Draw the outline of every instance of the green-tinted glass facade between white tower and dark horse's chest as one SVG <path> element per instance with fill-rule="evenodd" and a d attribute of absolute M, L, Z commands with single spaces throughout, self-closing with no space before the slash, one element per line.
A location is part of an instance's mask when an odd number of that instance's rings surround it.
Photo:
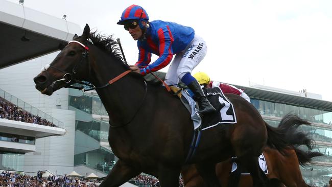
<path fill-rule="evenodd" d="M 81 96 L 69 96 L 69 106 L 89 115 L 91 121 L 76 120 L 75 130 L 81 132 L 76 141 L 84 141 L 85 147 L 75 143 L 74 165 L 86 165 L 89 168 L 108 173 L 115 163 L 115 156 L 108 145 L 108 114 L 100 98 L 93 92 L 84 92 Z M 82 135 L 83 133 L 83 135 Z"/>

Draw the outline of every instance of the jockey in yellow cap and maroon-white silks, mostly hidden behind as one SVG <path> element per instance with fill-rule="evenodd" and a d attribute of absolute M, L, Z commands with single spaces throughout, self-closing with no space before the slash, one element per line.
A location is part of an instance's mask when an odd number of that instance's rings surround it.
<path fill-rule="evenodd" d="M 234 93 L 238 96 L 243 97 L 245 100 L 247 100 L 250 103 L 249 96 L 242 89 L 218 81 L 210 81 L 210 77 L 203 72 L 196 73 L 194 77 L 203 87 L 207 88 L 219 87 L 223 91 L 223 93 Z"/>

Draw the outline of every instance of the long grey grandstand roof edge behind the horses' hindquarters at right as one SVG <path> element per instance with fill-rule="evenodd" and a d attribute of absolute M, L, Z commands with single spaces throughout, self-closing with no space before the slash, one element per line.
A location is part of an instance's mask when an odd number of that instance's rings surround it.
<path fill-rule="evenodd" d="M 252 99 L 291 104 L 291 105 L 314 108 L 325 111 L 332 111 L 332 102 L 329 101 L 303 97 L 292 93 L 284 93 L 277 90 L 245 87 L 239 85 L 234 85 L 234 86 L 245 90 L 247 95 Z"/>

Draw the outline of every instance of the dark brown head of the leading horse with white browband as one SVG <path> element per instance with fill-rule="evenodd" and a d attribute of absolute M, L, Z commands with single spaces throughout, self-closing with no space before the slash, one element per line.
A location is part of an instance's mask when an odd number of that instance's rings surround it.
<path fill-rule="evenodd" d="M 89 35 L 88 25 L 85 26 L 82 36 L 75 34 L 73 41 L 34 78 L 36 89 L 51 96 L 54 91 L 74 84 L 75 80 L 86 80 L 89 75 L 89 48 L 86 46 Z"/>

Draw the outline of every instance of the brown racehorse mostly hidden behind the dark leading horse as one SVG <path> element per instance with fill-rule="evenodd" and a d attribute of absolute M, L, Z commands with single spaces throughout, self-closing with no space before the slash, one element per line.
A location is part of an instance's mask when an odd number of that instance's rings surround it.
<path fill-rule="evenodd" d="M 309 150 L 312 150 L 314 144 L 314 140 L 309 134 L 297 131 L 299 125 L 310 125 L 310 123 L 298 118 L 296 115 L 284 116 L 278 128 L 281 131 L 287 131 L 285 138 L 289 148 L 284 149 L 283 154 L 268 146 L 264 148 L 263 154 L 267 163 L 267 177 L 271 180 L 269 186 L 283 186 L 283 184 L 290 187 L 309 186 L 302 178 L 299 165 L 305 166 L 312 161 L 313 157 L 322 156 L 323 154 L 311 151 L 304 152 L 298 148 L 298 146 L 304 145 Z M 217 176 L 223 186 L 227 186 L 229 182 L 232 163 L 231 159 L 228 159 L 219 162 L 216 166 Z M 186 187 L 204 186 L 203 179 L 197 172 L 195 165 L 184 166 L 181 175 Z M 251 187 L 250 175 L 241 175 L 239 186 Z"/>

